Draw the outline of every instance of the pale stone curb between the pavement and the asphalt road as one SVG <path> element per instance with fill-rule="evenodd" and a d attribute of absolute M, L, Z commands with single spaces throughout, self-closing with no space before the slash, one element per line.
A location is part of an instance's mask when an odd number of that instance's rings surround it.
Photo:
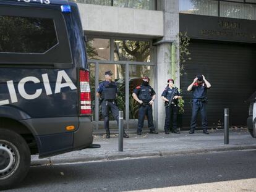
<path fill-rule="evenodd" d="M 223 152 L 223 151 L 243 151 L 249 149 L 256 149 L 256 144 L 247 144 L 239 146 L 219 146 L 213 148 L 202 148 L 202 149 L 184 149 L 179 151 L 173 150 L 163 150 L 163 151 L 142 151 L 136 152 L 134 154 L 130 152 L 116 152 L 111 155 L 100 155 L 93 157 L 62 157 L 59 159 L 36 159 L 31 162 L 31 166 L 41 166 L 41 165 L 54 165 L 54 164 L 69 164 L 76 162 L 93 162 L 93 161 L 113 161 L 122 159 L 136 159 L 136 158 L 146 158 L 146 157 L 168 157 L 184 154 L 202 154 L 208 152 Z"/>

